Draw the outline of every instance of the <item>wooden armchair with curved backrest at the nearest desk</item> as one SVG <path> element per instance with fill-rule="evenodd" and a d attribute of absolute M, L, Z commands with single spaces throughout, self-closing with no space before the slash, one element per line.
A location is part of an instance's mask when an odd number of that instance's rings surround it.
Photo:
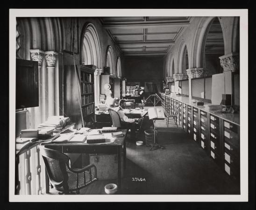
<path fill-rule="evenodd" d="M 71 168 L 70 158 L 66 154 L 43 146 L 40 146 L 40 152 L 51 184 L 62 192 L 59 194 L 71 194 L 71 191 L 79 194 L 79 189 L 97 180 L 97 169 L 92 164 L 84 168 Z"/>

